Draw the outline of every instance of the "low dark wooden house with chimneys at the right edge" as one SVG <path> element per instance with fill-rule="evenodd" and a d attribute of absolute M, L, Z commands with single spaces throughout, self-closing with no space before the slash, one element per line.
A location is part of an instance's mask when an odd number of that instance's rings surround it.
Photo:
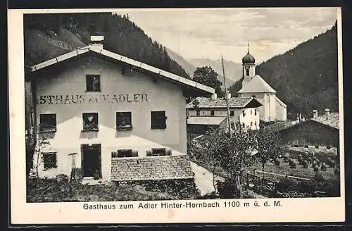
<path fill-rule="evenodd" d="M 282 145 L 298 151 L 328 151 L 337 154 L 339 147 L 339 113 L 325 112 L 318 115 L 313 110 L 312 118 L 270 125 L 281 136 Z"/>

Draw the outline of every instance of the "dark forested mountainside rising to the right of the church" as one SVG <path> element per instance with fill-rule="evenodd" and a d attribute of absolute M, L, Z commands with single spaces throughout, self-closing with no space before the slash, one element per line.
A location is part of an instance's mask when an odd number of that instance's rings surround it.
<path fill-rule="evenodd" d="M 338 111 L 337 23 L 326 32 L 309 39 L 284 54 L 256 67 L 287 104 L 288 117 L 302 113 L 311 117 L 314 109 Z M 232 94 L 241 82 L 231 87 Z"/>

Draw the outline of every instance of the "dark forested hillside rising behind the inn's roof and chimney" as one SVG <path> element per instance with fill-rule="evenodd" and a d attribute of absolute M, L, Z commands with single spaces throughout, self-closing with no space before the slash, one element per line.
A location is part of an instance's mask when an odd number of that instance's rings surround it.
<path fill-rule="evenodd" d="M 109 51 L 148 63 L 176 75 L 189 75 L 165 47 L 153 41 L 128 15 L 112 13 L 55 13 L 25 15 L 25 64 L 32 65 L 89 44 L 103 35 Z"/>

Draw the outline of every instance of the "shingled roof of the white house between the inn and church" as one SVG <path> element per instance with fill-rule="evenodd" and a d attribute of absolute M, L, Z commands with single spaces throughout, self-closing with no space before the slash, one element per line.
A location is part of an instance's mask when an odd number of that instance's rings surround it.
<path fill-rule="evenodd" d="M 197 108 L 227 108 L 225 98 L 210 99 L 197 97 L 186 105 L 186 108 L 195 108 L 194 102 L 198 101 Z M 252 97 L 232 97 L 228 100 L 229 108 L 256 108 L 262 106 Z"/>

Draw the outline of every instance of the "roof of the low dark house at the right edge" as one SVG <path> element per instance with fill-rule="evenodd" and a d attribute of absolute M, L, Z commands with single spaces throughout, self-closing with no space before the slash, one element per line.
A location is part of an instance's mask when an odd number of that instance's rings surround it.
<path fill-rule="evenodd" d="M 277 130 L 277 131 L 282 131 L 282 130 L 287 130 L 291 127 L 296 127 L 305 123 L 308 123 L 310 121 L 314 121 L 316 123 L 321 123 L 323 125 L 327 125 L 329 127 L 333 127 L 335 129 L 339 129 L 339 113 L 333 112 L 330 113 L 330 119 L 327 120 L 326 116 L 318 116 L 318 118 L 310 118 L 308 120 L 302 121 L 302 122 L 295 122 L 295 121 L 284 121 L 284 122 L 278 122 L 274 123 L 272 125 L 269 125 L 268 127 L 272 130 Z"/>

